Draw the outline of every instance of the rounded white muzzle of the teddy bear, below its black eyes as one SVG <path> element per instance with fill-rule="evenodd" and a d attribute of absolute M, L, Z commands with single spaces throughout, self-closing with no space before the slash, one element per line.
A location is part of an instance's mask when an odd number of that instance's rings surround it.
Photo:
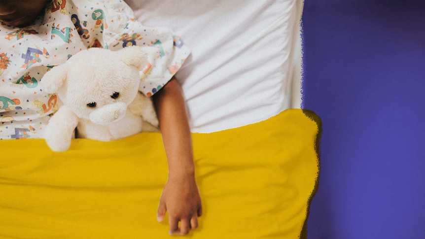
<path fill-rule="evenodd" d="M 90 113 L 90 120 L 99 125 L 107 125 L 122 119 L 126 114 L 127 105 L 123 102 L 107 104 Z"/>

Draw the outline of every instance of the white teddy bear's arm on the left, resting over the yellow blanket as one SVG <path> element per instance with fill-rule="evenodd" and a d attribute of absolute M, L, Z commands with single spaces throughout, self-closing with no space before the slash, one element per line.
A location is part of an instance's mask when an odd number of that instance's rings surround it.
<path fill-rule="evenodd" d="M 78 120 L 78 116 L 65 105 L 50 118 L 44 130 L 44 138 L 53 151 L 62 152 L 71 146 L 71 138 Z"/>

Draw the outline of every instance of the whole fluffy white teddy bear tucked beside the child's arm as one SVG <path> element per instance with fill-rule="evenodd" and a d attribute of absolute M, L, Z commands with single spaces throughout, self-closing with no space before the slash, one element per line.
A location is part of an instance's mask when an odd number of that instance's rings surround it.
<path fill-rule="evenodd" d="M 158 131 L 153 102 L 139 91 L 146 55 L 139 46 L 89 48 L 47 71 L 40 84 L 61 105 L 44 130 L 48 146 L 68 150 L 75 129 L 76 137 L 101 141 Z"/>

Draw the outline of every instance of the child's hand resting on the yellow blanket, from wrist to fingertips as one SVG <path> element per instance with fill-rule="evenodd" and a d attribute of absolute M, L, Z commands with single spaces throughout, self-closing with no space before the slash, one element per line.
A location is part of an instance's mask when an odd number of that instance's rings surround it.
<path fill-rule="evenodd" d="M 195 179 L 170 178 L 165 184 L 158 207 L 158 221 L 164 220 L 168 211 L 170 235 L 186 235 L 198 227 L 198 217 L 202 214 L 201 197 Z M 180 227 L 178 222 L 180 221 Z"/>

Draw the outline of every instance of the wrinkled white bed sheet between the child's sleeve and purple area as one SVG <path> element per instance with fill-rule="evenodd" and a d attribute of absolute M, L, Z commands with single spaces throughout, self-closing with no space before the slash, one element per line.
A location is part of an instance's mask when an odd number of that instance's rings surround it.
<path fill-rule="evenodd" d="M 236 128 L 301 105 L 302 0 L 126 0 L 192 50 L 177 72 L 192 132 Z"/>

